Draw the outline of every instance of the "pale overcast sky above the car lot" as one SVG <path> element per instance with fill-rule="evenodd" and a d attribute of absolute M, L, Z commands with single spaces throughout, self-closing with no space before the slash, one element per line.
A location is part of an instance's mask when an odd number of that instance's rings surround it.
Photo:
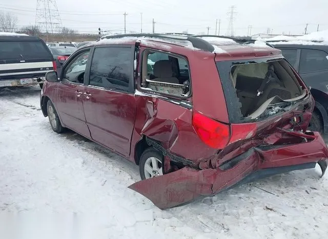
<path fill-rule="evenodd" d="M 140 32 L 142 12 L 143 32 L 215 33 L 216 19 L 221 19 L 220 35 L 227 33 L 231 5 L 235 5 L 235 35 L 266 33 L 302 34 L 306 23 L 308 32 L 328 29 L 328 0 L 49 0 L 56 2 L 63 26 L 79 32 L 97 33 L 102 30 Z M 47 0 L 45 0 L 47 2 Z M 37 0 L 1 1 L 0 11 L 18 17 L 18 27 L 35 24 Z M 84 15 L 83 15 L 84 14 Z"/>

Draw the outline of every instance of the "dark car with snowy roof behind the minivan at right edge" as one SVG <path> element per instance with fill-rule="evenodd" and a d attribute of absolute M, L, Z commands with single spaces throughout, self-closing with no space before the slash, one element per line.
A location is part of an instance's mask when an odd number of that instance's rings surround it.
<path fill-rule="evenodd" d="M 308 42 L 271 43 L 297 70 L 315 99 L 309 129 L 328 133 L 328 46 Z"/>

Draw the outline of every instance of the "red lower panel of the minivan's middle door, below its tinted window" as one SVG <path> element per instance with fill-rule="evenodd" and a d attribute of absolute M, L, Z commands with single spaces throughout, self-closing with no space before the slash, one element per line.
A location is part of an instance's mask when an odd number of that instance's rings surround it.
<path fill-rule="evenodd" d="M 136 117 L 135 96 L 86 86 L 83 106 L 92 140 L 128 157 Z"/>

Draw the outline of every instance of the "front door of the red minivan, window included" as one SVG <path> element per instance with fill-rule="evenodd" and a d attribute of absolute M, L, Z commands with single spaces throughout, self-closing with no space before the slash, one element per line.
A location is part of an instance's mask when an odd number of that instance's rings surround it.
<path fill-rule="evenodd" d="M 55 95 L 56 109 L 64 125 L 89 138 L 90 132 L 83 110 L 83 93 L 90 51 L 89 48 L 77 52 L 64 65 Z"/>

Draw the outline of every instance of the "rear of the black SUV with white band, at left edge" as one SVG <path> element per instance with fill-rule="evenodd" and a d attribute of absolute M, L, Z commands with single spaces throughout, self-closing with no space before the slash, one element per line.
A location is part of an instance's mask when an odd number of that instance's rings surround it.
<path fill-rule="evenodd" d="M 53 57 L 38 38 L 2 37 L 0 80 L 43 77 L 53 70 Z"/>

